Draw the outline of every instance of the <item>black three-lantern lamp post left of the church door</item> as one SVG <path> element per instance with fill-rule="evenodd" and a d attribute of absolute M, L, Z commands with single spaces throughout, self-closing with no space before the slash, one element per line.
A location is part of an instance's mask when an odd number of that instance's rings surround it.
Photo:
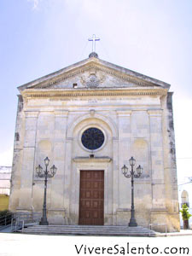
<path fill-rule="evenodd" d="M 47 201 L 47 178 L 48 177 L 54 177 L 57 168 L 55 167 L 55 165 L 53 165 L 50 168 L 50 173 L 47 169 L 47 167 L 49 166 L 49 158 L 46 157 L 44 159 L 44 165 L 45 165 L 45 171 L 43 171 L 42 166 L 38 165 L 38 167 L 36 167 L 36 172 L 38 174 L 38 177 L 44 177 L 44 207 L 43 207 L 43 216 L 41 218 L 41 221 L 39 222 L 39 225 L 49 225 L 49 222 L 47 220 L 47 209 L 46 209 L 46 201 Z"/>

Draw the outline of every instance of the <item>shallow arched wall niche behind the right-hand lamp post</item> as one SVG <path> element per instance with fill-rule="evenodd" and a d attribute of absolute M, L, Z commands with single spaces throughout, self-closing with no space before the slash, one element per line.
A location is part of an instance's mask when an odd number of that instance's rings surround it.
<path fill-rule="evenodd" d="M 143 138 L 135 139 L 133 143 L 133 157 L 136 159 L 136 165 L 143 167 L 143 176 L 149 175 L 149 154 L 148 143 Z"/>

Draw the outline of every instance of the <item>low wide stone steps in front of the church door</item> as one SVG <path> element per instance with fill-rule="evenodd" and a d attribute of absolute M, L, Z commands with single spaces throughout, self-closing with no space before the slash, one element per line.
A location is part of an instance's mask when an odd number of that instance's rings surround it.
<path fill-rule="evenodd" d="M 157 236 L 141 226 L 33 225 L 20 230 L 25 234 L 68 236 Z"/>

